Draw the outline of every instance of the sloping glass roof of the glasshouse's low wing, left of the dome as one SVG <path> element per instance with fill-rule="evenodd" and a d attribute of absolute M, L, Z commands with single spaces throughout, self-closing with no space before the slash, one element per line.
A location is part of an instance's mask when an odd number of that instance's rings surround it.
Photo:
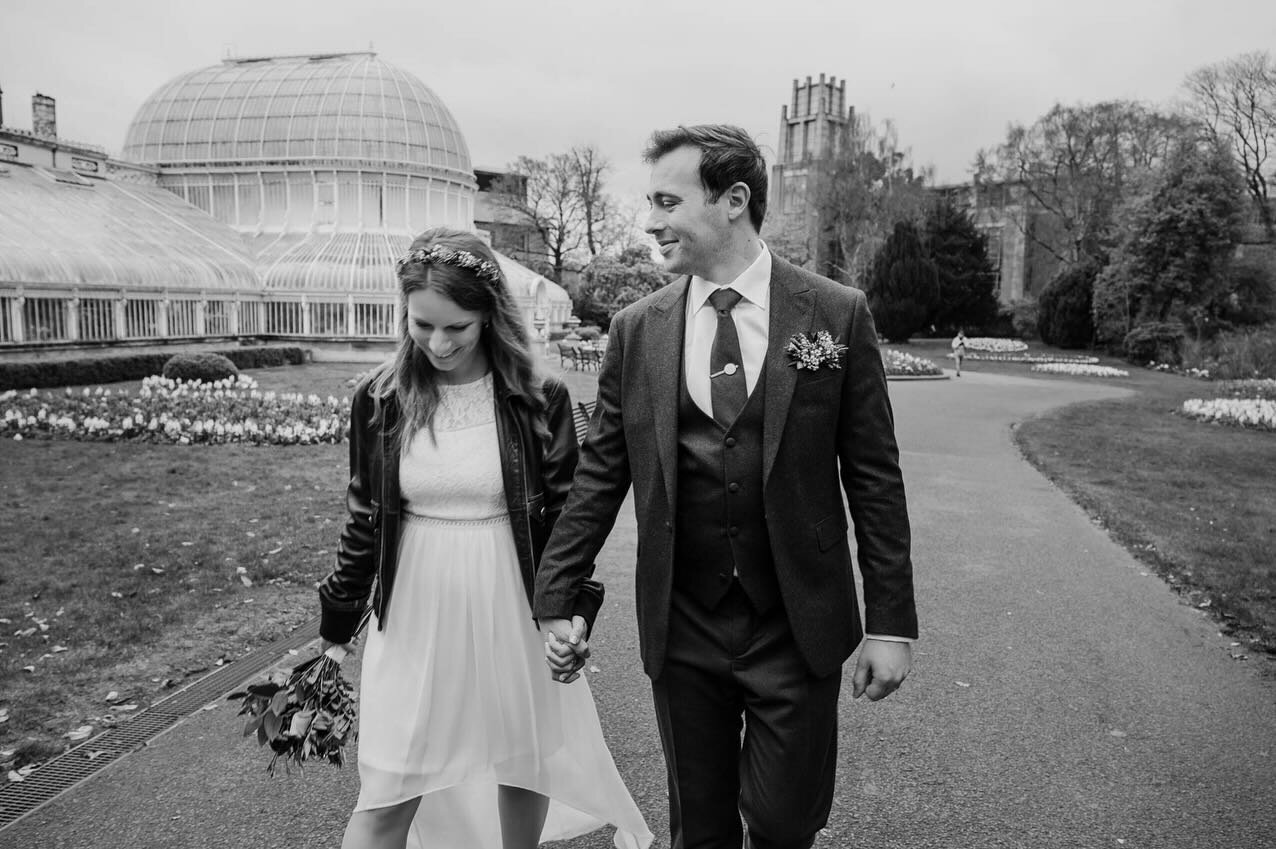
<path fill-rule="evenodd" d="M 230 227 L 153 186 L 0 167 L 0 283 L 260 291 Z"/>

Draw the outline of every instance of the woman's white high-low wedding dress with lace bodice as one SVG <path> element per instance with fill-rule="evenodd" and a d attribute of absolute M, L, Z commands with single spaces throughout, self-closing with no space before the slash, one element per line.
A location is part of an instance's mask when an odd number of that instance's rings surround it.
<path fill-rule="evenodd" d="M 500 849 L 498 785 L 550 798 L 541 841 L 652 841 L 582 675 L 550 679 L 505 507 L 491 377 L 443 387 L 406 446 L 398 572 L 367 628 L 356 811 L 421 798 L 410 846 Z"/>

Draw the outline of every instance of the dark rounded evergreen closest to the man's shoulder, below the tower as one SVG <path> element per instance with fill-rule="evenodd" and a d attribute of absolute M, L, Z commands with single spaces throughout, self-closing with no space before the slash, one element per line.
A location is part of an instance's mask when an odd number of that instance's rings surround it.
<path fill-rule="evenodd" d="M 894 225 L 865 282 L 877 329 L 892 342 L 906 342 L 925 327 L 939 304 L 939 272 L 921 246 L 917 227 L 907 221 Z"/>

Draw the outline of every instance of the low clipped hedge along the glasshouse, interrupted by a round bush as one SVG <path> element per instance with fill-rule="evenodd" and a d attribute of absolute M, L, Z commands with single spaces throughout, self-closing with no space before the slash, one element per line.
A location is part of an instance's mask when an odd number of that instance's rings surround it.
<path fill-rule="evenodd" d="M 213 354 L 225 356 L 241 369 L 301 365 L 306 361 L 306 351 L 300 347 L 236 347 Z M 130 354 L 98 359 L 0 363 L 0 392 L 140 380 L 161 374 L 171 356 L 172 354 Z"/>

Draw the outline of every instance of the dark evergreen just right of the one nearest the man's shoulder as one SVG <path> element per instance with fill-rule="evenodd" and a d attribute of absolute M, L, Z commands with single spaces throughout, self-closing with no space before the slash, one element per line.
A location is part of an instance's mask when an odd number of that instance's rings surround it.
<path fill-rule="evenodd" d="M 940 198 L 926 214 L 926 253 L 939 273 L 939 303 L 930 323 L 951 334 L 997 320 L 997 271 L 988 258 L 988 236 L 970 213 Z"/>

